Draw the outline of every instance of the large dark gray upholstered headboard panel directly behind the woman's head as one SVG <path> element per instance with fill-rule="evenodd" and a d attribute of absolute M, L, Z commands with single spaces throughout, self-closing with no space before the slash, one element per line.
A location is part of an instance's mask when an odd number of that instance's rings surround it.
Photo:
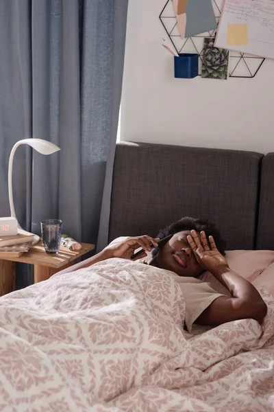
<path fill-rule="evenodd" d="M 109 240 L 156 236 L 182 216 L 208 218 L 227 249 L 254 249 L 263 155 L 121 142 L 116 147 Z"/>

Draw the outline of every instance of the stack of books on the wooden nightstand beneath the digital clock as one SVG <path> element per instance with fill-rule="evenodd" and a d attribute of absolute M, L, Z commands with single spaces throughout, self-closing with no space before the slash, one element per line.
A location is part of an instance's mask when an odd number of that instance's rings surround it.
<path fill-rule="evenodd" d="M 34 240 L 33 235 L 3 236 L 0 238 L 0 259 L 19 258 L 28 252 Z"/>

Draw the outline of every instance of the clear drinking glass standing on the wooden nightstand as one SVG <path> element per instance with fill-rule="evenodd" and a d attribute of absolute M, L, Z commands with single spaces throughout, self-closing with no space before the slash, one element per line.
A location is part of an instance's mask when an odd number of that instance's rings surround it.
<path fill-rule="evenodd" d="M 62 238 L 62 220 L 42 220 L 41 233 L 45 251 L 50 255 L 59 253 Z"/>

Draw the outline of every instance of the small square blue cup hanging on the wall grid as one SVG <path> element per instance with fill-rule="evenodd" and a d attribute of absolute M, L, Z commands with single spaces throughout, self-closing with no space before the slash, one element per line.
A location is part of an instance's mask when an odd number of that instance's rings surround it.
<path fill-rule="evenodd" d="M 198 54 L 182 53 L 174 56 L 174 77 L 179 79 L 192 79 L 198 76 Z"/>

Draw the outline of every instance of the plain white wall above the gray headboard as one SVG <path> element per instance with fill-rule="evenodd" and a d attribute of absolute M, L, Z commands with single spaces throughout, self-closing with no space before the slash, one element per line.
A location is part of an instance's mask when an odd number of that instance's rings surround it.
<path fill-rule="evenodd" d="M 129 0 L 121 140 L 274 152 L 274 61 L 253 79 L 175 79 L 165 3 Z"/>

